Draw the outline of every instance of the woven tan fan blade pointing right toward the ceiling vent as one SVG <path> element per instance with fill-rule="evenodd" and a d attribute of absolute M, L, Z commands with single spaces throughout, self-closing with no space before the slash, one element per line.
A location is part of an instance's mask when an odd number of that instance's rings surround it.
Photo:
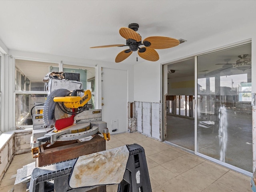
<path fill-rule="evenodd" d="M 180 44 L 178 39 L 170 38 L 170 37 L 160 37 L 160 36 L 152 36 L 147 37 L 143 40 L 150 42 L 149 48 L 152 49 L 167 49 L 171 47 L 175 47 Z"/>

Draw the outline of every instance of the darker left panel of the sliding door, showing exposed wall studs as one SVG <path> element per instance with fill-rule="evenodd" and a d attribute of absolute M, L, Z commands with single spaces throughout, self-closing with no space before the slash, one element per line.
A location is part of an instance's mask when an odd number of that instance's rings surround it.
<path fill-rule="evenodd" d="M 195 150 L 194 67 L 194 57 L 168 65 L 166 96 L 165 140 L 191 151 Z"/>

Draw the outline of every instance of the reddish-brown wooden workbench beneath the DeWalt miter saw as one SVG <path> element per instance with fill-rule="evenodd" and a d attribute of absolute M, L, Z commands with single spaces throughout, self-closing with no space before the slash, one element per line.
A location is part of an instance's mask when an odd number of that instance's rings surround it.
<path fill-rule="evenodd" d="M 36 158 L 36 166 L 38 167 L 104 151 L 106 150 L 106 140 L 95 134 L 90 141 L 80 142 L 79 140 L 74 140 L 55 142 L 50 147 L 43 145 L 40 148 L 41 152 L 39 157 Z M 90 190 L 90 192 L 93 191 L 106 192 L 106 186 L 100 186 L 94 190 Z"/>

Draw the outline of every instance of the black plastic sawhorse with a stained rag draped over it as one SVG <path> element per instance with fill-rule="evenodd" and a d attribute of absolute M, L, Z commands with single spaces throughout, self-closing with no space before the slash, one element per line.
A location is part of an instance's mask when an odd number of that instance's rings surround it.
<path fill-rule="evenodd" d="M 138 144 L 127 145 L 130 152 L 124 178 L 118 192 L 152 192 L 144 148 Z M 76 159 L 58 162 L 33 170 L 30 192 L 86 192 L 97 186 L 70 188 L 68 179 Z M 49 182 L 53 181 L 53 182 Z"/>

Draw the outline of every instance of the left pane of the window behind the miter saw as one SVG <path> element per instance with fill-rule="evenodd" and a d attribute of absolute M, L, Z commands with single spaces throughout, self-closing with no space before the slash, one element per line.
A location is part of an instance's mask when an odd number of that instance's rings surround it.
<path fill-rule="evenodd" d="M 42 79 L 50 71 L 50 66 L 58 68 L 55 63 L 15 60 L 16 126 L 33 124 L 31 114 L 34 114 L 37 108 L 42 108 L 34 106 L 43 104 L 47 97 Z"/>

